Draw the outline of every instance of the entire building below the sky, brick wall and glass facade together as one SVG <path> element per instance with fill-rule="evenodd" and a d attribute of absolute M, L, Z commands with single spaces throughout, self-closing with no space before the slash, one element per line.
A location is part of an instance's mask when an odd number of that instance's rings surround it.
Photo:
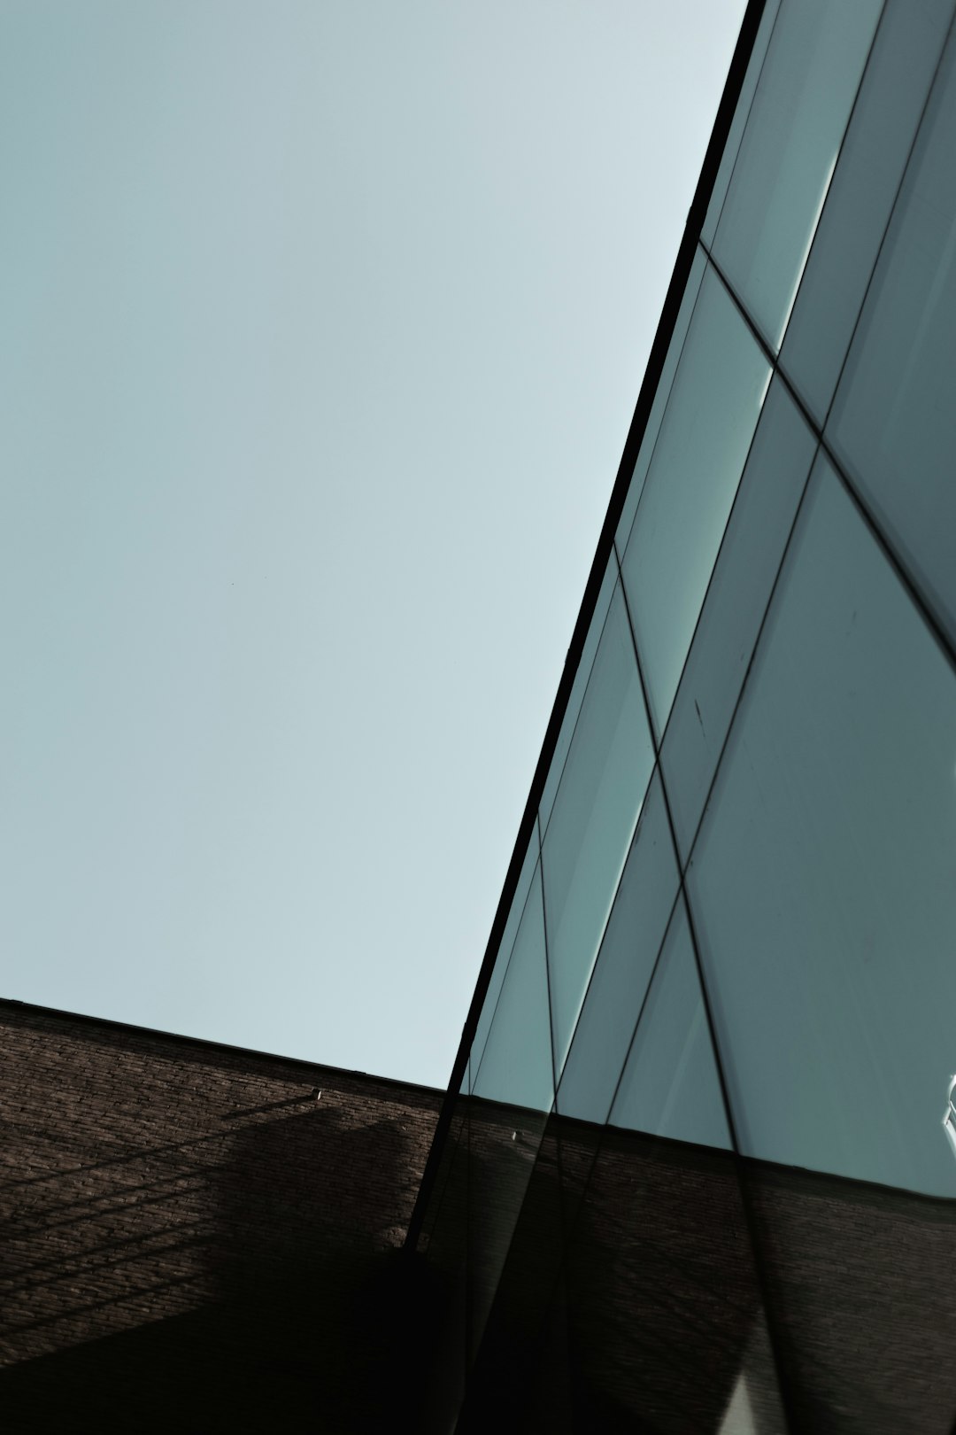
<path fill-rule="evenodd" d="M 748 6 L 444 1099 L 0 1003 L 4 1431 L 956 1431 L 955 9 Z"/>

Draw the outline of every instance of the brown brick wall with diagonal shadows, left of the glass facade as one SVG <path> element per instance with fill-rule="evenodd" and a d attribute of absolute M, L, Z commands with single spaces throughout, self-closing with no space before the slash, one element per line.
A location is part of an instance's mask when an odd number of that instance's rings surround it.
<path fill-rule="evenodd" d="M 19 1003 L 0 1062 L 4 1432 L 388 1428 L 440 1092 Z"/>

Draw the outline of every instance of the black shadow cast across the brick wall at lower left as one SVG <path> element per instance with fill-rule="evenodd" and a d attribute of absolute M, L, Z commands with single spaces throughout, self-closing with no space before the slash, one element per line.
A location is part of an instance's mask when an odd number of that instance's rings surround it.
<path fill-rule="evenodd" d="M 365 1102 L 370 1112 L 374 1105 Z M 221 1118 L 221 1134 L 166 1148 L 145 1139 L 99 1167 L 89 1162 L 87 1180 L 110 1162 L 136 1172 L 123 1185 L 112 1174 L 105 1194 L 77 1197 L 72 1170 L 7 1182 L 29 1194 L 42 1181 L 44 1190 L 39 1220 L 36 1204 L 24 1208 L 34 1227 L 17 1224 L 16 1201 L 6 1205 L 20 1233 L 9 1271 L 20 1316 L 7 1319 L 7 1349 L 20 1340 L 27 1350 L 30 1326 L 44 1323 L 69 1327 L 72 1339 L 59 1349 L 47 1339 L 47 1353 L 21 1353 L 0 1370 L 4 1435 L 416 1428 L 410 1372 L 429 1302 L 401 1254 L 397 1221 L 420 1118 L 416 1125 L 406 1111 L 361 1124 L 354 1108 L 343 1115 L 301 1099 L 235 1115 Z M 163 1151 L 173 1168 L 158 1165 Z M 152 1181 L 139 1180 L 146 1161 Z M 103 1203 L 116 1191 L 128 1218 L 110 1236 Z M 60 1237 L 53 1254 L 52 1233 Z M 70 1260 L 79 1261 L 73 1284 Z M 93 1270 L 100 1289 L 109 1279 L 107 1290 L 122 1294 L 102 1302 L 112 1300 L 112 1333 L 96 1336 L 92 1325 L 77 1336 L 76 1322 L 96 1314 Z M 59 1304 L 47 1313 L 54 1281 Z M 158 1316 L 163 1287 L 176 1281 L 193 1292 L 186 1309 Z"/>

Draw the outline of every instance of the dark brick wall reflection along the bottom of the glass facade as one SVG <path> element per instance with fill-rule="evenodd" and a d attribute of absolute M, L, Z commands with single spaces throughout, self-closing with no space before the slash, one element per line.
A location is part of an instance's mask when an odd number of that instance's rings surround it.
<path fill-rule="evenodd" d="M 426 1254 L 459 1432 L 949 1435 L 952 1203 L 555 1118 L 529 1178 L 520 1114 L 462 1106 Z"/>

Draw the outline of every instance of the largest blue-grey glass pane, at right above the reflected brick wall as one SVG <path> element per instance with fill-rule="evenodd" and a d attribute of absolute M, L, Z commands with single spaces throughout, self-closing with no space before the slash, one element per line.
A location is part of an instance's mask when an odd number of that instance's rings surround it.
<path fill-rule="evenodd" d="M 688 868 L 741 1148 L 956 1195 L 956 677 L 817 461 Z"/>

